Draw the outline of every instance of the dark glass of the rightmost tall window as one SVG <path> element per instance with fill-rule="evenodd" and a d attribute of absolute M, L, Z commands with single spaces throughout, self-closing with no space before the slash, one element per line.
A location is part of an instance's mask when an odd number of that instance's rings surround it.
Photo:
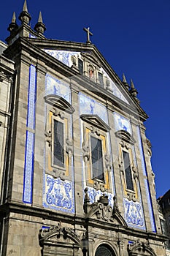
<path fill-rule="evenodd" d="M 132 176 L 131 176 L 131 165 L 128 152 L 123 151 L 123 162 L 125 167 L 125 181 L 127 189 L 134 190 Z"/>

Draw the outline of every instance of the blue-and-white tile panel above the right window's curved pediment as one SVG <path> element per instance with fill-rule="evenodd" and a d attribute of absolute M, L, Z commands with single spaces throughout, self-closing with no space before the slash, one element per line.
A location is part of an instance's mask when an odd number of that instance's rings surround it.
<path fill-rule="evenodd" d="M 124 129 L 126 132 L 129 132 L 130 134 L 132 134 L 131 123 L 127 118 L 120 116 L 118 113 L 114 113 L 114 118 L 115 118 L 116 131 L 120 129 Z"/>

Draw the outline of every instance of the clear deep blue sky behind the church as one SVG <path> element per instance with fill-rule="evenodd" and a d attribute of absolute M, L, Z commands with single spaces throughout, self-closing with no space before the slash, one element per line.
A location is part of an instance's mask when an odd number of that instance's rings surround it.
<path fill-rule="evenodd" d="M 134 80 L 141 106 L 150 116 L 146 134 L 152 143 L 157 197 L 163 195 L 170 189 L 170 1 L 27 0 L 27 4 L 32 27 L 42 11 L 47 38 L 85 42 L 82 29 L 90 26 L 91 41 L 117 75 L 121 78 L 124 72 L 128 82 Z M 1 3 L 2 41 L 9 35 L 13 11 L 20 24 L 22 8 L 23 0 Z"/>

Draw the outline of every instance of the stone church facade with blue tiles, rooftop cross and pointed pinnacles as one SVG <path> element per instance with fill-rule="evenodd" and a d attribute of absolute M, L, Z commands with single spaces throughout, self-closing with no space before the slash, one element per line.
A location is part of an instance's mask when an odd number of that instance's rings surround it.
<path fill-rule="evenodd" d="M 0 56 L 1 255 L 165 256 L 134 83 L 26 1 Z"/>

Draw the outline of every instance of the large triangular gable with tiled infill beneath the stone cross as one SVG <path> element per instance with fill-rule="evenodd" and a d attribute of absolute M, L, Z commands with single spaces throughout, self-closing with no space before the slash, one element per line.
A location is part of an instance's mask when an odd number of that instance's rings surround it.
<path fill-rule="evenodd" d="M 42 51 L 42 56 L 44 53 L 43 58 L 47 59 L 48 55 L 50 58 L 49 60 L 52 62 L 53 60 L 51 57 L 69 67 L 70 75 L 72 73 L 73 76 L 81 75 L 88 78 L 89 74 L 87 65 L 83 71 L 83 75 L 80 74 L 78 69 L 78 59 L 81 59 L 82 61 L 86 60 L 89 66 L 92 64 L 92 66 L 96 68 L 96 74 L 100 72 L 103 75 L 104 87 L 101 89 L 102 93 L 106 91 L 107 95 L 110 95 L 110 99 L 114 99 L 115 101 L 118 99 L 117 102 L 120 105 L 120 108 L 125 107 L 125 110 L 131 110 L 133 113 L 138 113 L 141 116 L 142 121 L 147 119 L 147 114 L 144 112 L 144 110 L 142 110 L 139 102 L 137 102 L 136 99 L 134 99 L 134 97 L 128 91 L 128 89 L 125 88 L 123 81 L 120 80 L 112 67 L 109 66 L 106 59 L 104 59 L 104 56 L 101 55 L 95 45 L 82 42 L 59 41 L 53 39 L 30 38 L 28 41 Z M 50 64 L 49 60 L 47 60 L 47 64 Z M 58 62 L 56 62 L 56 65 L 58 65 Z M 88 82 L 88 80 L 85 81 Z M 96 86 L 100 87 L 98 78 L 93 80 L 93 82 L 96 83 Z M 121 102 L 125 103 L 125 105 L 123 104 L 122 106 Z"/>

